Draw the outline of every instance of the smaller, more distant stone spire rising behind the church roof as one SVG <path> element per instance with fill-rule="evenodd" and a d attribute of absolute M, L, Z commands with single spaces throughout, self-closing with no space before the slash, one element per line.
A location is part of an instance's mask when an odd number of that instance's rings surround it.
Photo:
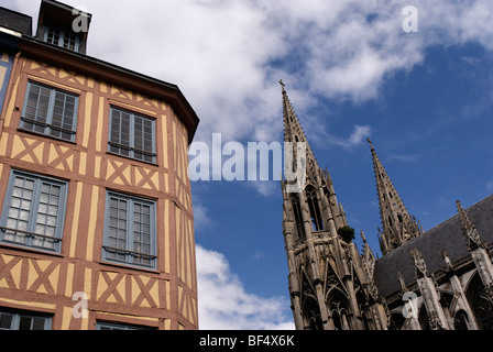
<path fill-rule="evenodd" d="M 401 200 L 397 190 L 376 155 L 372 141 L 368 139 L 368 142 L 372 151 L 383 227 L 383 231 L 379 231 L 380 249 L 382 250 L 382 254 L 385 255 L 393 249 L 421 234 L 421 229 L 416 222 L 416 219 L 408 213 Z"/>

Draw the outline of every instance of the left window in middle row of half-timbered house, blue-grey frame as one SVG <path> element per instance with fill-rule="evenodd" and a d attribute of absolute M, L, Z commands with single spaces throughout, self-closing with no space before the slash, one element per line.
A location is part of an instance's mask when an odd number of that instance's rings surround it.
<path fill-rule="evenodd" d="M 67 184 L 13 170 L 0 222 L 0 240 L 59 253 Z"/>

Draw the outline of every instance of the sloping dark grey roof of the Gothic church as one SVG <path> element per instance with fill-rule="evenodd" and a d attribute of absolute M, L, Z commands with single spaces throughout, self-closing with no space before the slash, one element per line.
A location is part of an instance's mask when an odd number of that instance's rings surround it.
<path fill-rule="evenodd" d="M 493 244 L 493 195 L 468 208 L 465 213 L 483 242 L 491 248 Z M 430 273 L 445 268 L 442 250 L 447 251 L 452 264 L 468 257 L 468 242 L 462 234 L 459 216 L 456 215 L 376 261 L 374 279 L 383 297 L 388 297 L 401 289 L 397 273 L 403 275 L 407 286 L 416 282 L 415 266 L 410 257 L 410 251 L 414 249 L 421 253 Z"/>

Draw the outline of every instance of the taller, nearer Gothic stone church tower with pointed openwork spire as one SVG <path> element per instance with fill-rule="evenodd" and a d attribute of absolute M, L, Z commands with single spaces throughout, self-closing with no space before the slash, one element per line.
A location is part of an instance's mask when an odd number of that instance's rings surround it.
<path fill-rule="evenodd" d="M 330 175 L 319 167 L 280 82 L 284 141 L 306 143 L 306 187 L 292 193 L 288 182 L 282 182 L 283 233 L 296 329 L 386 329 L 385 306 L 373 282 L 374 257 L 372 253 L 360 257 Z"/>

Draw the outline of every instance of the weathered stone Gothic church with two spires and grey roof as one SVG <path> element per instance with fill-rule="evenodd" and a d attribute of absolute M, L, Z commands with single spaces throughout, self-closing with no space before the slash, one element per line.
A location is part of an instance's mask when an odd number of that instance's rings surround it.
<path fill-rule="evenodd" d="M 282 82 L 281 82 L 282 84 Z M 424 232 L 370 142 L 383 257 L 353 242 L 329 172 L 321 169 L 283 86 L 285 142 L 306 143 L 306 187 L 282 182 L 283 234 L 296 329 L 493 329 L 493 196 Z M 296 158 L 295 158 L 296 160 Z"/>

